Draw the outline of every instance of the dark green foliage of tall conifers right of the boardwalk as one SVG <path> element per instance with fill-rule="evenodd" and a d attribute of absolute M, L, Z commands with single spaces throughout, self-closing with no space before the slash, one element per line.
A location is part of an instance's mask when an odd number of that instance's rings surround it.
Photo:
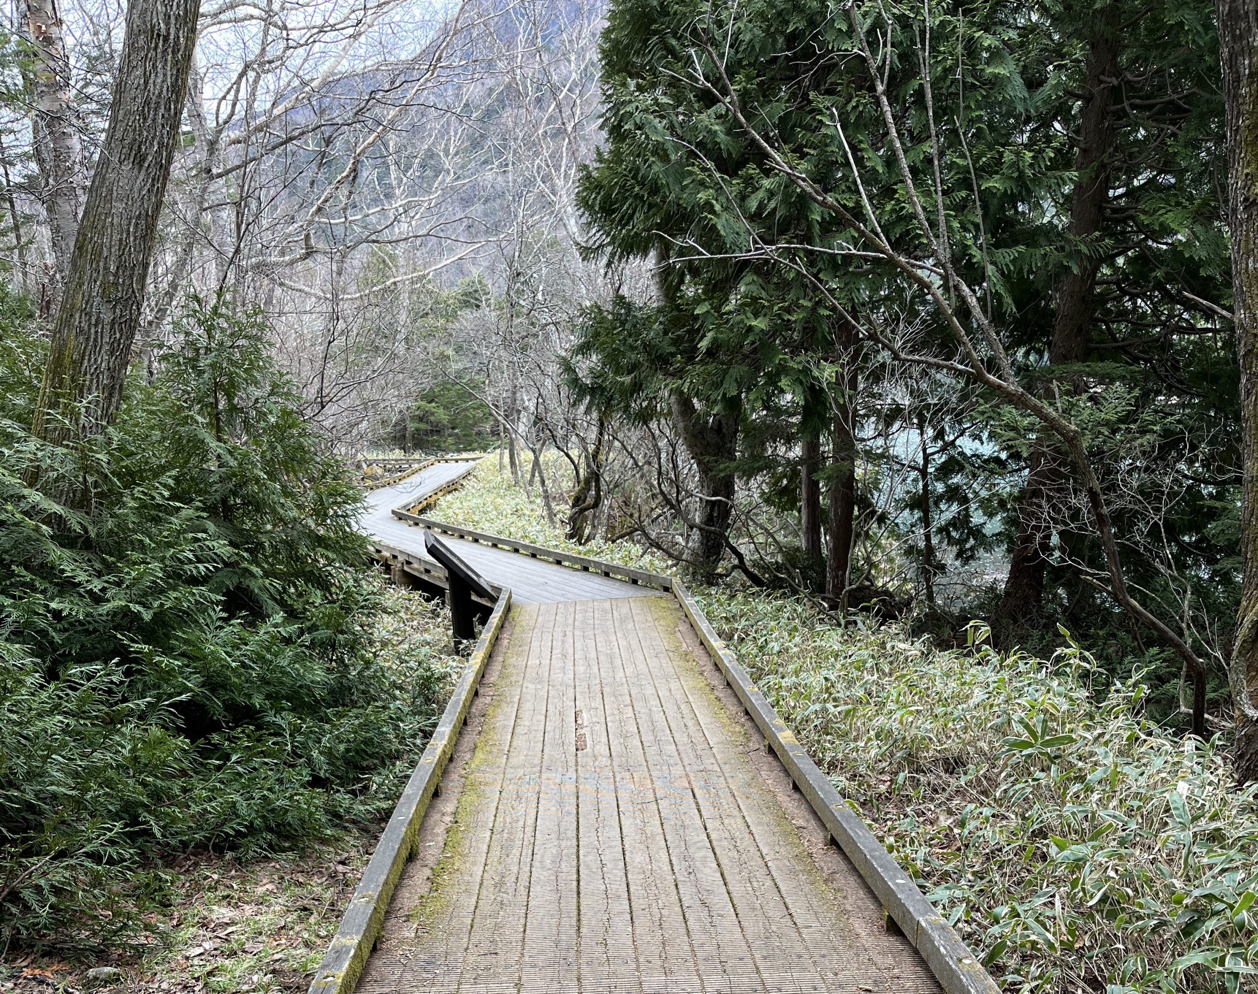
<path fill-rule="evenodd" d="M 866 224 L 876 214 L 889 244 L 930 259 L 892 130 L 855 54 L 852 10 L 811 0 L 616 0 L 603 35 L 606 141 L 582 176 L 580 204 L 613 260 L 660 263 L 664 313 L 648 343 L 671 349 L 674 375 L 696 395 L 738 399 L 740 493 L 790 522 L 800 439 L 820 432 L 828 445 L 830 411 L 855 406 L 858 535 L 867 541 L 858 541 L 853 575 L 916 585 L 921 599 L 920 486 L 874 512 L 888 481 L 913 473 L 903 461 L 920 450 L 920 418 L 931 445 L 933 554 L 961 581 L 977 572 L 976 557 L 1011 547 L 1028 466 L 1058 442 L 961 377 L 889 361 L 868 336 L 855 396 L 837 389 L 839 307 L 907 351 L 961 356 L 937 308 L 872 252 L 855 223 L 785 179 L 720 97 L 732 93 L 750 126 L 850 218 Z M 1016 379 L 1053 396 L 1086 437 L 1128 584 L 1167 624 L 1190 629 L 1200 656 L 1220 658 L 1238 593 L 1239 409 L 1234 343 L 1220 318 L 1230 271 L 1213 5 L 998 0 L 854 10 L 874 48 L 893 53 L 879 78 L 930 225 L 946 235 Z M 1121 77 L 1108 104 L 1107 196 L 1099 230 L 1078 234 L 1086 82 L 1106 33 L 1117 38 Z M 1066 277 L 1089 265 L 1094 292 L 1063 297 Z M 1068 304 L 1086 313 L 1086 342 L 1081 357 L 1049 369 Z M 614 398 L 637 386 L 621 370 L 633 371 L 626 342 L 642 338 L 639 317 L 613 308 L 585 328 L 586 384 L 610 385 Z M 1049 652 L 1062 624 L 1098 645 L 1115 673 L 1154 664 L 1151 706 L 1167 715 L 1177 666 L 1156 635 L 1136 630 L 1081 579 L 1103 583 L 1106 566 L 1078 491 L 1063 479 L 1052 503 L 1043 605 L 1020 640 Z M 809 572 L 794 554 L 780 559 L 788 575 Z M 772 570 L 761 564 L 761 574 Z M 999 591 L 988 596 L 975 576 L 969 594 L 954 588 L 947 601 L 964 624 L 986 617 Z"/>

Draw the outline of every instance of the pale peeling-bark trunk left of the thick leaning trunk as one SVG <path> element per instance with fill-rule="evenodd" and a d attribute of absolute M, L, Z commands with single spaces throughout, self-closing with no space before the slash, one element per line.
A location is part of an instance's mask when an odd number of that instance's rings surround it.
<path fill-rule="evenodd" d="M 30 31 L 33 98 L 31 138 L 39 170 L 40 200 L 48 215 L 57 271 L 50 293 L 55 307 L 70 268 L 79 211 L 83 208 L 84 164 L 70 91 L 70 63 L 57 0 L 26 0 Z M 121 78 L 121 77 L 120 77 Z"/>

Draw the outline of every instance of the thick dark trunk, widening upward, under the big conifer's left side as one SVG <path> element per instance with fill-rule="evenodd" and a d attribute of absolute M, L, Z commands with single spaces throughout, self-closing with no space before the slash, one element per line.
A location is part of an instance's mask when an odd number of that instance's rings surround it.
<path fill-rule="evenodd" d="M 694 409 L 694 401 L 681 393 L 674 393 L 669 403 L 673 423 L 699 477 L 702 506 L 691 532 L 691 561 L 697 569 L 711 572 L 725 555 L 733 515 L 731 464 L 738 443 L 738 422 L 728 414 L 702 415 Z"/>

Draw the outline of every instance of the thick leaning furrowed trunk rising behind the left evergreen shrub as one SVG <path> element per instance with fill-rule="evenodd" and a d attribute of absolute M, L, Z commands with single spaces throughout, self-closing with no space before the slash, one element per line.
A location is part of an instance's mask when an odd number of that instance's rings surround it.
<path fill-rule="evenodd" d="M 200 0 L 132 0 L 109 126 L 74 243 L 35 413 L 64 442 L 113 420 L 179 138 Z M 79 409 L 79 405 L 83 405 Z M 62 416 L 58 416 L 60 414 Z"/>

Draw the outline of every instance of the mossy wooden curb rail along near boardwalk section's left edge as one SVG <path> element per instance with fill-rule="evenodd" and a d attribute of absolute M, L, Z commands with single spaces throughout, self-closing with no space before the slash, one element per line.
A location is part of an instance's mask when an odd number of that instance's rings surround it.
<path fill-rule="evenodd" d="M 463 727 L 472 698 L 481 683 L 493 644 L 502 632 L 503 619 L 511 608 L 511 591 L 503 590 L 486 622 L 472 657 L 459 678 L 450 702 L 442 713 L 437 731 L 420 756 L 415 771 L 406 783 L 398 807 L 371 854 L 371 861 L 359 881 L 350 907 L 341 920 L 323 963 L 314 974 L 309 994 L 350 994 L 357 984 L 371 949 L 384 927 L 385 912 L 392 897 L 401 871 L 415 846 L 419 825 L 424 820 L 428 804 L 437 791 L 442 771 L 454 751 L 454 744 Z"/>

